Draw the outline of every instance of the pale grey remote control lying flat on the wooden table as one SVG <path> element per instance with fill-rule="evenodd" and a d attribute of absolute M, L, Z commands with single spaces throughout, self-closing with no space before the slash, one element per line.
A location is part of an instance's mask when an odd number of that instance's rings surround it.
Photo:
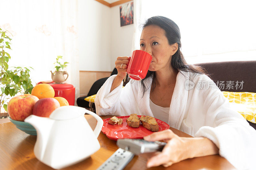
<path fill-rule="evenodd" d="M 133 157 L 132 152 L 119 148 L 97 170 L 122 170 Z"/>

